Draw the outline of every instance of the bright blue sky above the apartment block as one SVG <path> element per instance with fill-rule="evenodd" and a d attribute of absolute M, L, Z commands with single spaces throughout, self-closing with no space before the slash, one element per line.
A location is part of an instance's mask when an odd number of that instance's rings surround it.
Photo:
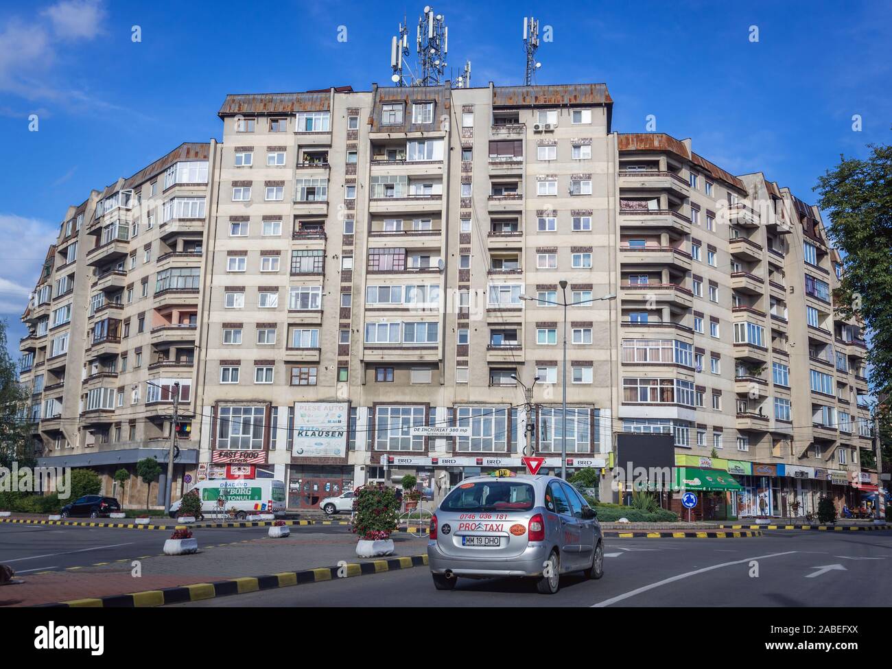
<path fill-rule="evenodd" d="M 621 132 L 644 131 L 654 114 L 658 131 L 692 137 L 724 169 L 762 169 L 808 202 L 840 153 L 889 141 L 888 2 L 534 5 L 553 34 L 536 83 L 606 82 Z M 451 64 L 458 72 L 470 59 L 474 86 L 522 83 L 529 7 L 496 10 L 507 6 L 434 4 L 450 26 Z M 422 7 L 3 0 L 0 318 L 15 355 L 19 316 L 70 203 L 183 141 L 219 138 L 227 93 L 387 84 L 390 37 Z"/>

